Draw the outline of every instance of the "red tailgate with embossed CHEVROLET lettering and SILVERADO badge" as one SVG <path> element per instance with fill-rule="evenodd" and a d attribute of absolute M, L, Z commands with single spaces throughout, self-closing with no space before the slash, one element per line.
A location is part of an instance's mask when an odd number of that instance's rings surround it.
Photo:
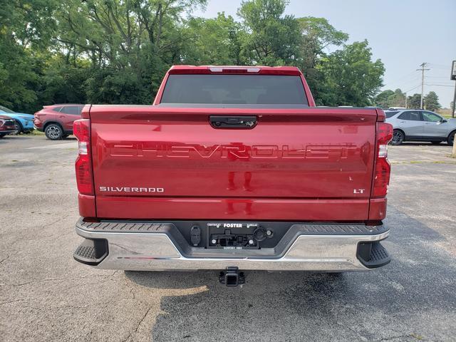
<path fill-rule="evenodd" d="M 257 124 L 251 129 L 214 128 L 209 118 L 217 115 L 250 115 Z M 171 218 L 182 216 L 177 208 L 195 210 L 198 207 L 192 205 L 199 203 L 199 207 L 208 205 L 202 219 L 212 217 L 206 210 L 210 203 L 212 208 L 222 203 L 214 217 L 226 218 L 241 203 L 237 219 L 254 219 L 255 209 L 289 212 L 290 208 L 299 210 L 295 216 L 301 219 L 323 219 L 306 210 L 324 203 L 339 203 L 341 209 L 343 203 L 345 210 L 353 204 L 356 217 L 367 218 L 375 121 L 375 109 L 93 106 L 97 214 L 119 218 L 127 206 L 130 214 L 123 217 Z M 170 209 L 173 203 L 179 206 Z M 257 203 L 264 206 L 252 207 Z M 271 207 L 273 203 L 281 204 Z M 284 216 L 269 214 L 273 219 L 292 218 Z"/>

